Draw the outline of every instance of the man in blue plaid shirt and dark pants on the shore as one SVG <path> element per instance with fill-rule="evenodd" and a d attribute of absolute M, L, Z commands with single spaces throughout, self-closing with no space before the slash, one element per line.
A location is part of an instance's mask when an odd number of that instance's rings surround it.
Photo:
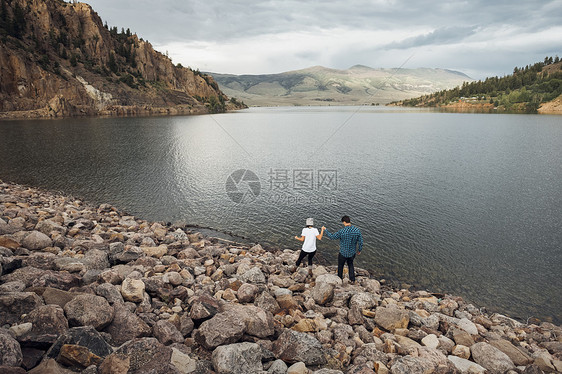
<path fill-rule="evenodd" d="M 349 216 L 343 216 L 341 221 L 344 228 L 332 234 L 325 227 L 328 238 L 340 240 L 340 253 L 338 254 L 338 276 L 343 280 L 343 266 L 347 263 L 349 269 L 349 280 L 355 283 L 355 268 L 353 267 L 353 260 L 356 254 L 361 254 L 363 249 L 363 236 L 358 227 L 351 224 Z"/>

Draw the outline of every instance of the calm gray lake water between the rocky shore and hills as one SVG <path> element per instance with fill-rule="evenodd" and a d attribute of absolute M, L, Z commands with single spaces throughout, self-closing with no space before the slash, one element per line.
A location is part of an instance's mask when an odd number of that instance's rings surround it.
<path fill-rule="evenodd" d="M 307 217 L 377 277 L 562 322 L 562 117 L 373 107 L 0 122 L 0 178 L 298 249 Z M 337 242 L 319 243 L 335 258 Z M 332 260 L 332 263 L 334 261 Z"/>

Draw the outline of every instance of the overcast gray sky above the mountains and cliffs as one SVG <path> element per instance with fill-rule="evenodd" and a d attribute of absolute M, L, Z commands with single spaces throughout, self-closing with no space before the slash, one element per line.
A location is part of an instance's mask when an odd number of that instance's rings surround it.
<path fill-rule="evenodd" d="M 430 67 L 475 79 L 562 57 L 562 1 L 89 0 L 174 63 L 264 74 Z"/>

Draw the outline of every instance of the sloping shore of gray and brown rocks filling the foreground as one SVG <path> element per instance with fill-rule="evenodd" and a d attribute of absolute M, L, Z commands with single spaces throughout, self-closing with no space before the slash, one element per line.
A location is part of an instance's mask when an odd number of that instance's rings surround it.
<path fill-rule="evenodd" d="M 0 373 L 549 373 L 562 328 L 0 181 Z"/>

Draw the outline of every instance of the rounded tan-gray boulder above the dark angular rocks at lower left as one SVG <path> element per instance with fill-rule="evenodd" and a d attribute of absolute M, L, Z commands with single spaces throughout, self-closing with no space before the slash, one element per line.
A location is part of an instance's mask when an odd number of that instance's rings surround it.
<path fill-rule="evenodd" d="M 71 326 L 93 326 L 101 330 L 113 320 L 114 309 L 101 296 L 78 295 L 64 306 Z"/>

